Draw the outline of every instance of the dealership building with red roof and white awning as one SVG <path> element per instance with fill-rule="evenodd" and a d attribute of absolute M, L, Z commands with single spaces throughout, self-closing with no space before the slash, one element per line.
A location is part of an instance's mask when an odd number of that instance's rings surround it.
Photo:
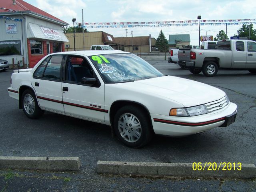
<path fill-rule="evenodd" d="M 65 51 L 62 27 L 68 25 L 22 0 L 1 0 L 0 59 L 32 68 L 47 54 Z"/>

